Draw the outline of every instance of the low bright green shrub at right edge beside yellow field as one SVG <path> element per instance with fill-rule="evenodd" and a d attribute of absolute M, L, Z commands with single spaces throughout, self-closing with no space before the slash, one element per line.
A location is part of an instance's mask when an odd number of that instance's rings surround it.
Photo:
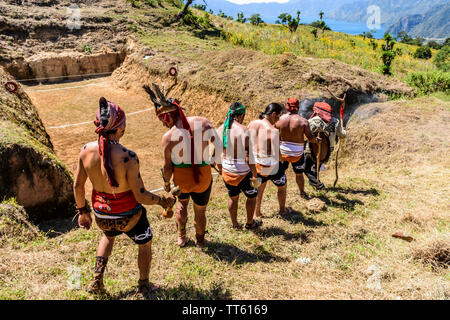
<path fill-rule="evenodd" d="M 414 87 L 419 94 L 433 92 L 450 94 L 450 72 L 412 72 L 407 76 L 406 82 Z"/>

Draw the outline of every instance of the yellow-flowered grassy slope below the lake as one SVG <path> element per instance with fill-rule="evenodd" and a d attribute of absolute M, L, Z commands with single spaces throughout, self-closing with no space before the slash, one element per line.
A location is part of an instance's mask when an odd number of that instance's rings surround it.
<path fill-rule="evenodd" d="M 383 40 L 363 39 L 334 31 L 318 31 L 317 38 L 312 34 L 310 26 L 299 26 L 295 33 L 280 25 L 263 27 L 238 22 L 224 22 L 225 37 L 234 44 L 243 45 L 268 54 L 293 52 L 296 55 L 331 58 L 363 69 L 377 72 L 381 62 L 381 46 Z M 377 44 L 374 50 L 371 41 Z M 401 56 L 393 63 L 393 72 L 399 79 L 404 79 L 410 72 L 432 71 L 435 66 L 431 60 L 415 59 L 416 46 L 397 43 Z M 436 51 L 433 51 L 435 53 Z"/>

